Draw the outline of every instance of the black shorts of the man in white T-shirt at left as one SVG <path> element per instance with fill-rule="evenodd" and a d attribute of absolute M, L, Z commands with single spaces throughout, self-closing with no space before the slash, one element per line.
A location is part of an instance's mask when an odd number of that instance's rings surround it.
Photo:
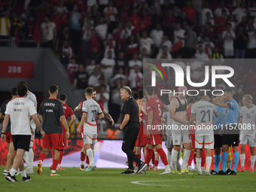
<path fill-rule="evenodd" d="M 30 135 L 11 135 L 13 137 L 14 150 L 17 151 L 21 148 L 25 151 L 29 151 Z"/>

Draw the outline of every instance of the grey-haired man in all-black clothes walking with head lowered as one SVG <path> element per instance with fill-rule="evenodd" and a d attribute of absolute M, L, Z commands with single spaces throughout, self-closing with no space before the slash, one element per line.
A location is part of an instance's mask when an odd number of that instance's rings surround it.
<path fill-rule="evenodd" d="M 124 101 L 123 108 L 121 109 L 120 118 L 122 124 L 117 130 L 117 137 L 120 132 L 124 130 L 122 150 L 127 155 L 128 169 L 121 174 L 134 174 L 133 172 L 133 161 L 138 163 L 139 169 L 136 173 L 142 172 L 147 166 L 146 163 L 142 162 L 139 157 L 133 152 L 133 148 L 139 133 L 139 106 L 136 100 L 132 97 L 132 90 L 130 87 L 123 87 L 120 89 L 120 96 Z"/>

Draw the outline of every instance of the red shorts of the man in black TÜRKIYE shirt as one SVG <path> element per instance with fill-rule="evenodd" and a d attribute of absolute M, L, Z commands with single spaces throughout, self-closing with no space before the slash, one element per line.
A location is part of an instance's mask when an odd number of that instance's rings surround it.
<path fill-rule="evenodd" d="M 64 148 L 62 133 L 45 134 L 43 138 L 44 148 L 53 148 L 62 151 Z"/>

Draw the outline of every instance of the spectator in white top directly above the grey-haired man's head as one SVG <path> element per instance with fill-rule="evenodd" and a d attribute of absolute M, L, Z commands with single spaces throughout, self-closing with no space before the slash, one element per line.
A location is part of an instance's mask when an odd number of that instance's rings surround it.
<path fill-rule="evenodd" d="M 134 72 L 130 73 L 128 77 L 130 87 L 136 87 L 138 90 L 142 88 L 143 75 L 139 71 L 139 66 L 134 66 Z"/>

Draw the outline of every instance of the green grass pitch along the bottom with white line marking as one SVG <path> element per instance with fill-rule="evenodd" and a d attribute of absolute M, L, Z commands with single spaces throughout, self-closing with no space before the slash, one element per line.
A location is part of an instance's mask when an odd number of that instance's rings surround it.
<path fill-rule="evenodd" d="M 2 174 L 4 166 L 0 166 Z M 256 172 L 248 171 L 233 175 L 159 175 L 149 171 L 147 174 L 121 175 L 124 169 L 97 169 L 91 172 L 81 172 L 79 168 L 57 170 L 59 177 L 50 177 L 49 167 L 43 167 L 41 175 L 31 175 L 32 180 L 12 183 L 2 175 L 0 178 L 1 191 L 255 191 Z"/>

